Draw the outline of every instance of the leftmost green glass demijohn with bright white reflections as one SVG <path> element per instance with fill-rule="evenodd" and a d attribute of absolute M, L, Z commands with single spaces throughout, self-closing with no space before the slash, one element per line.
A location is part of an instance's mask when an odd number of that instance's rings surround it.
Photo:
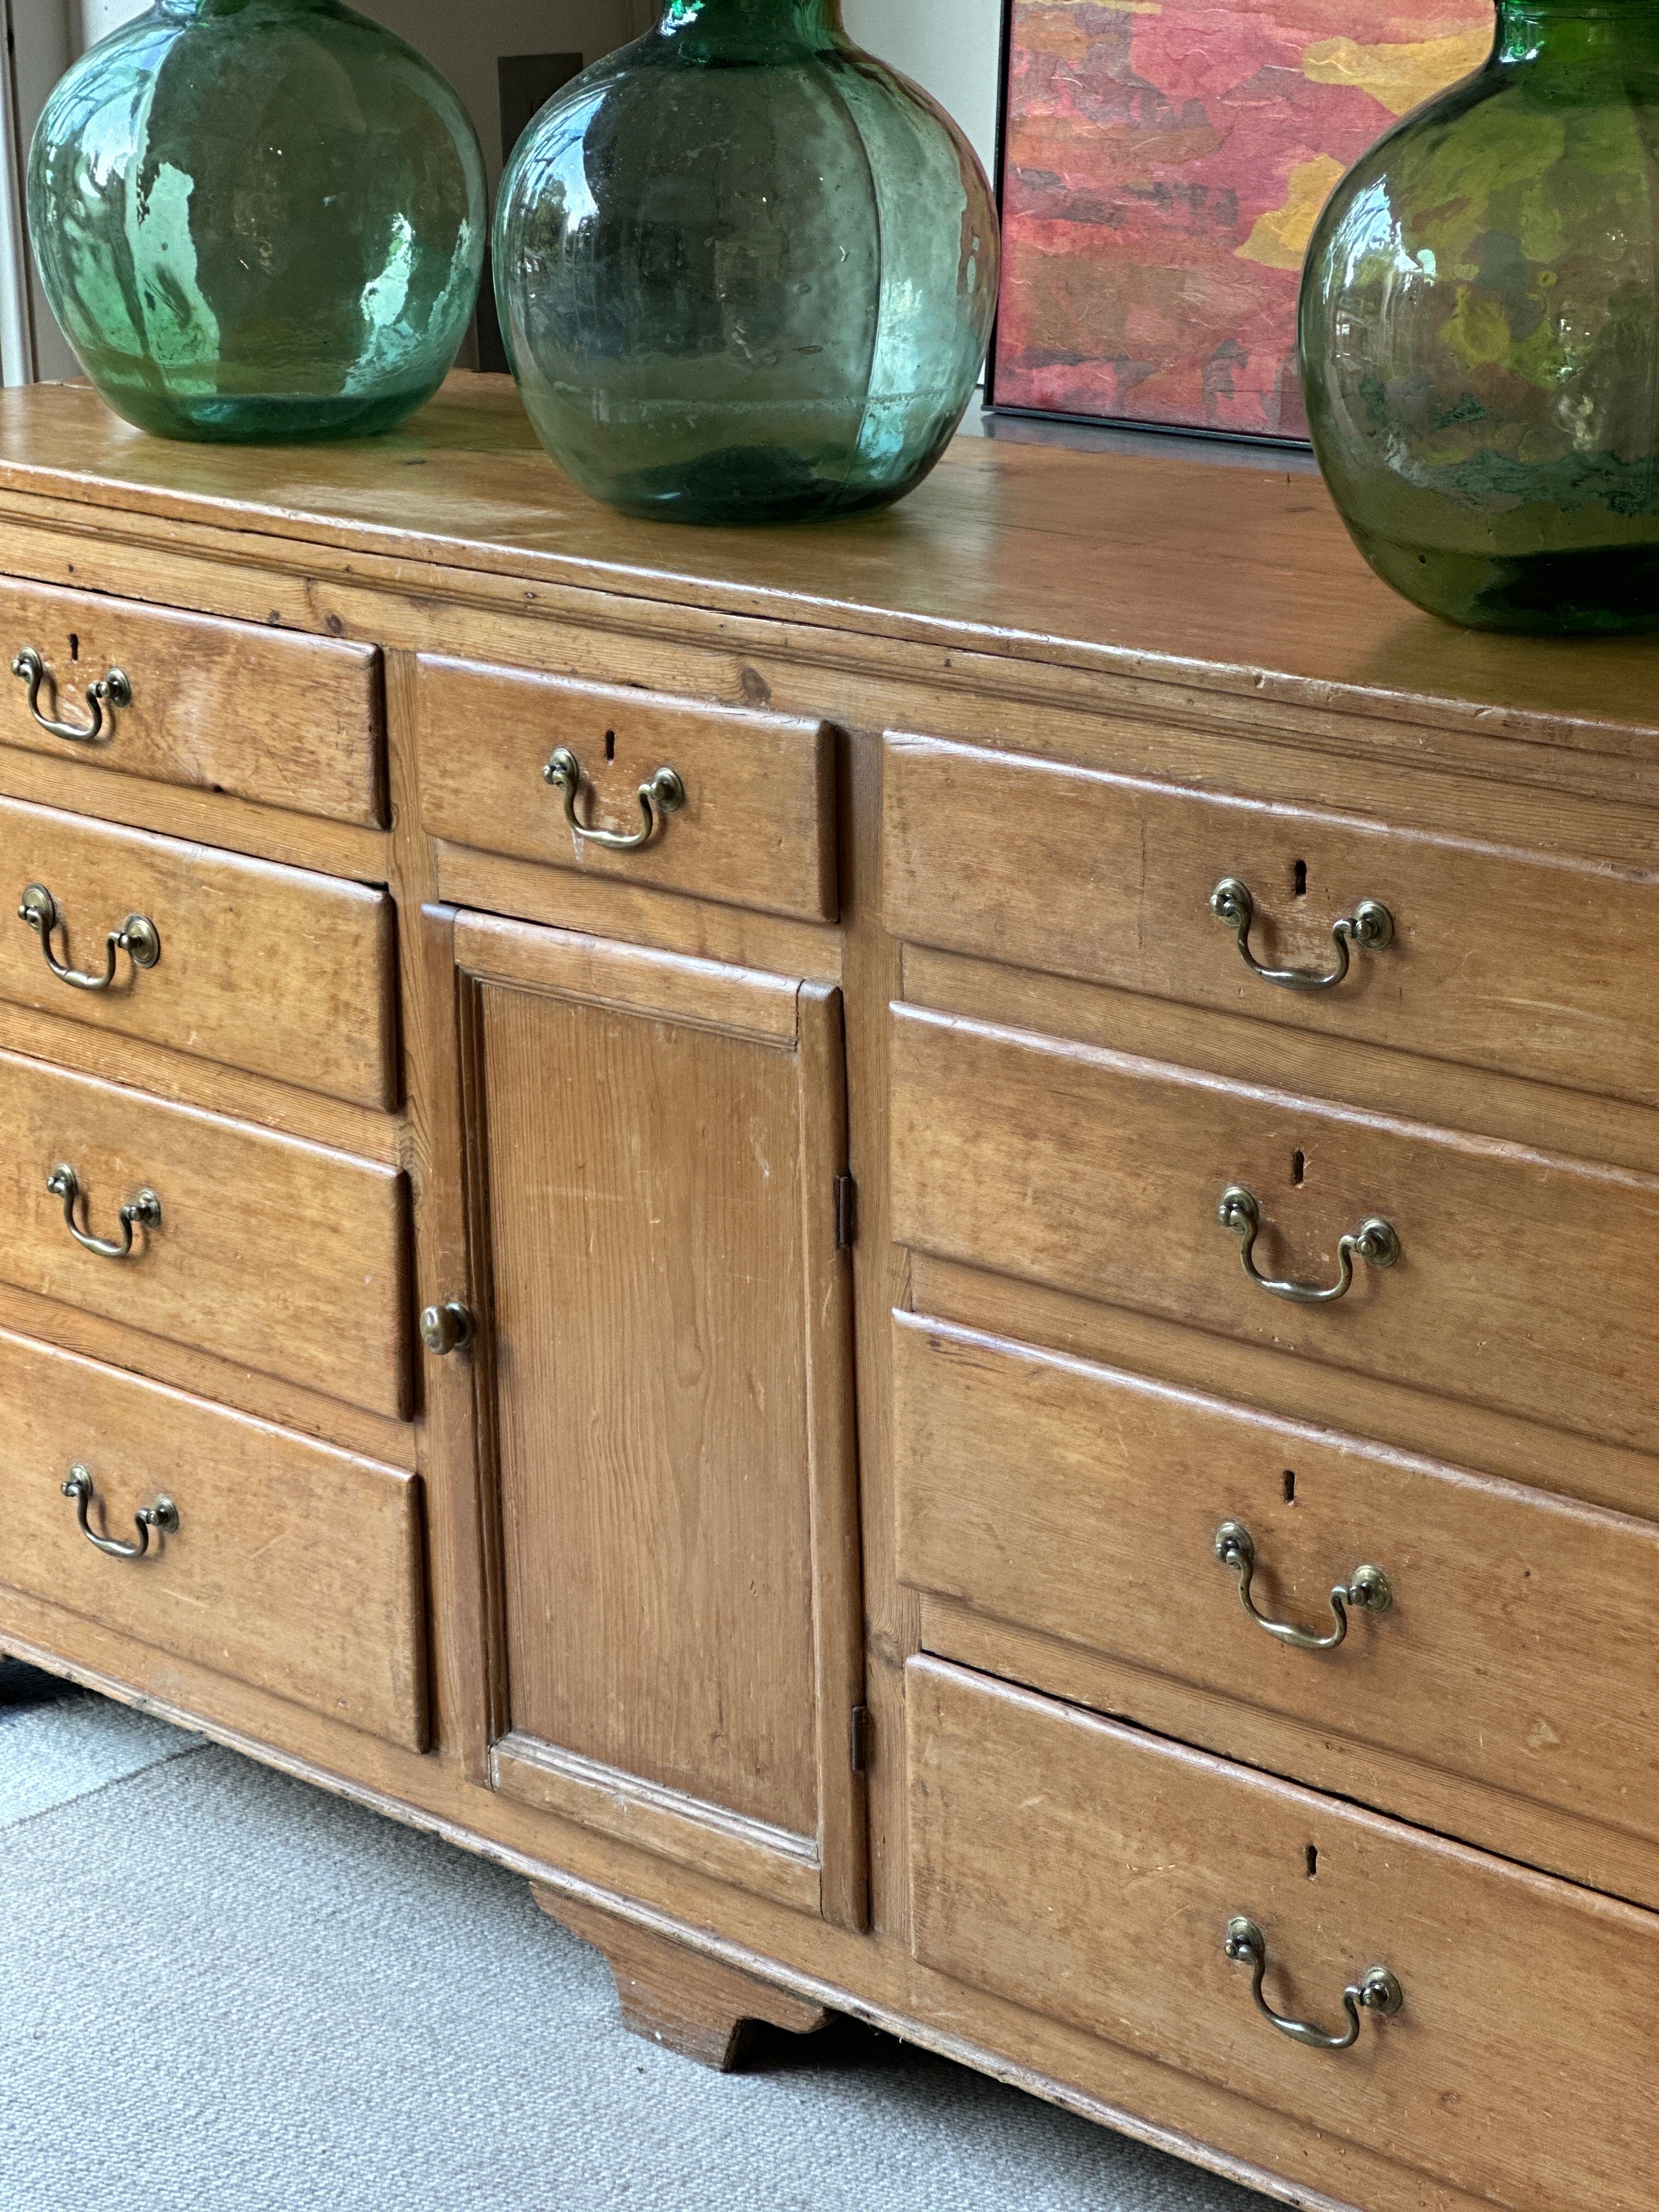
<path fill-rule="evenodd" d="M 157 0 L 51 95 L 29 230 L 64 336 L 128 422 L 367 436 L 456 361 L 484 166 L 438 71 L 338 0 Z"/>

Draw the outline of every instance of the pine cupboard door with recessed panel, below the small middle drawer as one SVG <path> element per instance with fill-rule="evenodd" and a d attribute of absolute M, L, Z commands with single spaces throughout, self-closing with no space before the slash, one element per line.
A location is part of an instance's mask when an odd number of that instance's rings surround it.
<path fill-rule="evenodd" d="M 865 1918 L 841 995 L 460 916 L 487 1778 Z"/>

